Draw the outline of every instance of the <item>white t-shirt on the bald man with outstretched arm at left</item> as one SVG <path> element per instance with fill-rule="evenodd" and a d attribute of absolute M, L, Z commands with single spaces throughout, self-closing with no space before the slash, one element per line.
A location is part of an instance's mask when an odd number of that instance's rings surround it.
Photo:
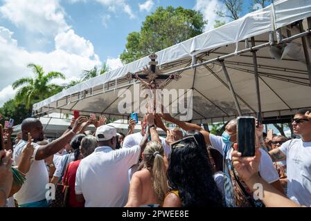
<path fill-rule="evenodd" d="M 15 165 L 19 165 L 21 160 L 21 151 L 26 147 L 27 142 L 20 140 L 15 151 L 13 153 L 13 158 Z M 44 200 L 46 197 L 46 184 L 48 183 L 48 171 L 46 171 L 46 166 L 44 160 L 35 160 L 35 155 L 38 144 L 32 143 L 35 151 L 33 151 L 33 159 L 31 160 L 31 165 L 28 173 L 26 174 L 26 181 L 24 182 L 21 189 L 15 193 L 14 198 L 17 200 L 18 204 L 26 204 L 30 202 L 38 202 Z"/>

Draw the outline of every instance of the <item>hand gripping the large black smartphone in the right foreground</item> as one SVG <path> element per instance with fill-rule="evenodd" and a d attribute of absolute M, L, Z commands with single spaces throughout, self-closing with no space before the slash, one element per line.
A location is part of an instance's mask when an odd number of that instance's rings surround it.
<path fill-rule="evenodd" d="M 231 154 L 233 166 L 242 180 L 247 181 L 253 175 L 257 175 L 260 164 L 260 149 L 256 148 L 254 157 L 241 157 L 242 153 L 237 151 L 238 144 L 233 144 L 233 148 L 235 149 Z"/>

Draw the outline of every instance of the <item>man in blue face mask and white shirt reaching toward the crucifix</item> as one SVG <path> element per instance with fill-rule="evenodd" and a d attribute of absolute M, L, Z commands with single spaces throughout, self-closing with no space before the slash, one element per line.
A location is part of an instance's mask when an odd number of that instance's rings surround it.
<path fill-rule="evenodd" d="M 233 143 L 237 140 L 236 119 L 231 120 L 226 125 L 226 130 L 220 137 L 204 131 L 201 126 L 196 124 L 180 122 L 178 119 L 175 119 L 168 113 L 162 114 L 162 117 L 168 122 L 177 124 L 185 131 L 199 131 L 199 133 L 204 135 L 205 143 L 211 144 L 212 148 L 215 148 L 224 156 L 224 198 L 226 206 L 262 206 L 258 200 L 252 199 L 252 194 L 247 192 L 247 189 L 245 188 L 246 185 L 243 182 L 236 181 L 238 180 L 236 179 L 238 175 L 236 175 L 236 177 L 233 176 L 234 169 L 231 167 L 231 153 L 233 152 Z M 261 125 L 260 130 L 256 129 L 256 131 L 261 135 L 263 133 L 263 126 Z M 260 165 L 258 167 L 260 176 L 263 177 L 266 182 L 272 184 L 276 189 L 283 192 L 280 180 L 278 178 L 278 173 L 274 168 L 271 158 L 265 151 L 263 151 L 263 149 L 260 148 L 260 151 L 262 153 L 262 157 L 260 158 Z"/>

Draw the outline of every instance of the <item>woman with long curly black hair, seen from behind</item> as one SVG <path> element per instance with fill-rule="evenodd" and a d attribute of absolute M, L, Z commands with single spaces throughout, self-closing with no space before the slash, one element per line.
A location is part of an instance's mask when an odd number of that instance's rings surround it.
<path fill-rule="evenodd" d="M 172 143 L 163 206 L 223 206 L 202 133 Z"/>

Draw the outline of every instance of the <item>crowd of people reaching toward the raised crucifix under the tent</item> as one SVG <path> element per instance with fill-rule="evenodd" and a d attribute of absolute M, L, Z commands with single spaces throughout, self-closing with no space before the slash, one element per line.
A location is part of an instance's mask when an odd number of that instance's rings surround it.
<path fill-rule="evenodd" d="M 106 121 L 103 115 L 73 117 L 62 136 L 48 142 L 39 119 L 27 118 L 14 145 L 12 128 L 5 128 L 0 206 L 55 206 L 57 199 L 47 198 L 47 184 L 68 186 L 69 207 L 311 205 L 311 108 L 292 120 L 299 139 L 274 135 L 270 140 L 259 124 L 254 157 L 238 152 L 237 119 L 221 135 L 152 111 L 138 133 L 132 119 L 127 135 Z M 85 131 L 90 124 L 96 131 Z"/>

